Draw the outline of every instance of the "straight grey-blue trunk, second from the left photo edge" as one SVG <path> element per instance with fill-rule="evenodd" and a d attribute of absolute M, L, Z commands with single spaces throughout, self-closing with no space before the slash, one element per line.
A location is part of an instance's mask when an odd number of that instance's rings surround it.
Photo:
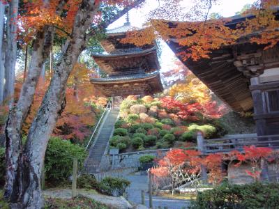
<path fill-rule="evenodd" d="M 8 1 L 7 49 L 5 56 L 5 88 L 3 100 L 11 107 L 15 92 L 15 61 L 17 59 L 17 11 L 18 0 Z"/>

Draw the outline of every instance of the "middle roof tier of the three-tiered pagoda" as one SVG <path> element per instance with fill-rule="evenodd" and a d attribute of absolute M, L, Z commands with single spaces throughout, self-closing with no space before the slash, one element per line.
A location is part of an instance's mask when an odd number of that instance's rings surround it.
<path fill-rule="evenodd" d="M 160 69 L 155 46 L 145 50 L 123 50 L 117 54 L 94 54 L 93 59 L 108 74 L 137 68 L 142 68 L 145 72 Z"/>

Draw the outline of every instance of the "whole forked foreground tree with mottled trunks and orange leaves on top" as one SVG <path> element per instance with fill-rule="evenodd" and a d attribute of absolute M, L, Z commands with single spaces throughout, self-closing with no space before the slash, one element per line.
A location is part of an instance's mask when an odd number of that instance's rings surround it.
<path fill-rule="evenodd" d="M 55 127 L 57 117 L 61 114 L 65 105 L 68 77 L 78 56 L 86 47 L 88 36 L 97 36 L 98 31 L 105 29 L 108 24 L 114 22 L 130 8 L 142 1 L 64 0 L 52 1 L 51 3 L 43 2 L 36 8 L 36 12 L 39 15 L 31 15 L 31 19 L 27 23 L 32 23 L 32 20 L 38 20 L 40 17 L 46 17 L 47 21 L 33 22 L 38 29 L 36 33 L 33 33 L 36 39 L 33 41 L 30 68 L 22 86 L 20 98 L 15 107 L 10 110 L 6 124 L 7 175 L 5 196 L 10 201 L 12 208 L 41 208 L 43 206 L 40 174 L 45 149 L 50 134 Z M 117 8 L 116 12 L 111 10 L 110 15 L 104 14 L 103 17 L 100 15 L 99 12 L 102 8 L 106 8 L 104 9 L 105 11 L 110 8 L 110 5 L 115 4 L 117 4 L 117 6 L 114 6 L 114 8 Z M 125 8 L 123 8 L 124 6 Z M 68 10 L 66 20 L 61 15 L 64 10 Z M 56 20 L 58 20 L 58 23 Z M 68 22 L 68 24 L 63 21 Z M 68 26 L 68 28 L 63 29 L 63 25 Z M 50 40 L 52 40 L 54 27 L 60 32 L 62 31 L 69 35 L 70 38 L 63 46 L 61 59 L 54 69 L 50 86 L 31 124 L 27 135 L 27 143 L 23 146 L 21 137 L 22 123 L 33 101 L 43 62 L 50 54 Z"/>

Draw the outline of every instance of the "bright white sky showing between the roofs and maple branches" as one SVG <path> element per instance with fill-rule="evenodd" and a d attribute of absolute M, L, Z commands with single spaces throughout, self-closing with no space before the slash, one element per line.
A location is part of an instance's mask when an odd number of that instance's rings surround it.
<path fill-rule="evenodd" d="M 150 10 L 158 6 L 158 0 L 146 0 L 147 2 L 142 8 L 132 9 L 129 12 L 130 23 L 132 26 L 141 27 L 146 22 L 146 15 Z M 236 12 L 240 11 L 247 3 L 253 3 L 255 0 L 221 0 L 218 5 L 213 5 L 209 13 L 220 13 L 223 17 L 234 16 Z M 119 20 L 110 24 L 108 29 L 113 29 L 117 26 L 122 26 L 126 22 L 126 15 L 123 15 Z M 176 57 L 165 42 L 160 42 L 162 54 L 160 57 L 161 72 L 167 72 L 173 68 L 173 63 Z"/>

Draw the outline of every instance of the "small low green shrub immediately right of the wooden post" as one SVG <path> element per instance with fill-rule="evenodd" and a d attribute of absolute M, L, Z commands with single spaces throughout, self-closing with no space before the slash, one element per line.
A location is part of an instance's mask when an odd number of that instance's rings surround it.
<path fill-rule="evenodd" d="M 77 178 L 77 188 L 79 189 L 96 189 L 100 191 L 100 185 L 95 176 L 91 174 L 82 174 Z"/>

